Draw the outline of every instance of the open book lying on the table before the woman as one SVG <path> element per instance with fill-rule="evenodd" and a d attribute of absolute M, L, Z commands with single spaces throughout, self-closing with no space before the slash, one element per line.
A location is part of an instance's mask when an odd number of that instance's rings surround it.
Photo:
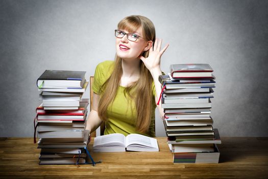
<path fill-rule="evenodd" d="M 157 140 L 132 133 L 125 137 L 121 133 L 98 136 L 94 139 L 94 152 L 159 151 Z"/>

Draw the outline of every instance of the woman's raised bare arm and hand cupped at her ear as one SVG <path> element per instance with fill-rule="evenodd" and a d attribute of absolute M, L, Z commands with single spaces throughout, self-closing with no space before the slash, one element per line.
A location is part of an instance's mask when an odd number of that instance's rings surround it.
<path fill-rule="evenodd" d="M 162 75 L 162 71 L 160 69 L 160 58 L 162 54 L 165 52 L 165 50 L 167 49 L 167 47 L 169 46 L 169 44 L 166 44 L 166 46 L 161 50 L 161 44 L 162 44 L 162 39 L 156 38 L 154 47 L 151 46 L 149 50 L 149 56 L 147 58 L 140 56 L 140 59 L 143 61 L 146 68 L 151 72 L 152 77 L 154 79 L 155 91 L 156 91 L 156 97 L 155 97 L 156 104 L 158 102 L 158 98 L 160 97 L 160 94 L 162 91 L 161 83 L 158 81 L 159 75 Z M 157 105 L 157 108 L 159 110 L 161 119 L 163 119 L 164 111 L 161 108 L 161 101 L 159 105 Z"/>

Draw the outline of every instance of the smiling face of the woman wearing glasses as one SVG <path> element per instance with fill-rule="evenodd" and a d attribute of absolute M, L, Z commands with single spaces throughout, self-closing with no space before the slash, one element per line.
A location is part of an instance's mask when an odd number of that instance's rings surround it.
<path fill-rule="evenodd" d="M 135 32 L 128 32 L 124 29 L 120 30 L 124 31 L 125 33 L 134 33 L 140 37 L 143 37 L 141 27 L 138 28 Z M 141 55 L 148 44 L 147 40 L 140 37 L 136 41 L 130 41 L 127 38 L 127 35 L 125 35 L 123 38 L 116 37 L 115 47 L 117 56 L 125 60 L 139 59 L 138 57 Z"/>

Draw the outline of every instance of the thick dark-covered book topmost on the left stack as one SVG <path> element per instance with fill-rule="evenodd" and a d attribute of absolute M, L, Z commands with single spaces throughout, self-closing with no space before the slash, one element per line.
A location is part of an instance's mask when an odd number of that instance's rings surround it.
<path fill-rule="evenodd" d="M 79 88 L 85 82 L 83 71 L 45 70 L 37 79 L 38 88 Z"/>

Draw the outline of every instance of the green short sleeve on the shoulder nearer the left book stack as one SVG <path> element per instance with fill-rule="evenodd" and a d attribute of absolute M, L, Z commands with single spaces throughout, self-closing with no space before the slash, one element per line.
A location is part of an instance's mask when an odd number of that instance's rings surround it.
<path fill-rule="evenodd" d="M 94 81 L 92 85 L 92 89 L 94 93 L 98 95 L 100 94 L 100 89 L 102 85 L 111 75 L 112 64 L 113 64 L 113 61 L 104 61 L 104 62 L 99 63 L 96 66 L 95 74 L 94 74 Z"/>

